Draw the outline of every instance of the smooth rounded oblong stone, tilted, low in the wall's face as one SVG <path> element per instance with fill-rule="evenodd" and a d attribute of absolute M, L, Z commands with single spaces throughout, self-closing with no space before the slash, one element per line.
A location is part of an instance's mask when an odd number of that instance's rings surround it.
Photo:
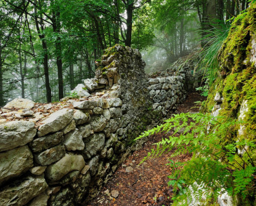
<path fill-rule="evenodd" d="M 70 171 L 81 171 L 81 169 L 83 169 L 84 166 L 85 162 L 81 155 L 66 153 L 66 155 L 61 160 L 50 165 L 46 169 L 46 177 L 51 182 L 55 182 L 63 178 L 68 173 L 70 173 Z"/>

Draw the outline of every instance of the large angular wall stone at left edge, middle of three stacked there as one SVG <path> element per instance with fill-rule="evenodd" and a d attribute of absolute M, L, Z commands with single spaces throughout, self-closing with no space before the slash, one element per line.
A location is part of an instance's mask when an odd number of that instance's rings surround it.
<path fill-rule="evenodd" d="M 0 153 L 0 184 L 33 167 L 33 155 L 28 146 Z"/>

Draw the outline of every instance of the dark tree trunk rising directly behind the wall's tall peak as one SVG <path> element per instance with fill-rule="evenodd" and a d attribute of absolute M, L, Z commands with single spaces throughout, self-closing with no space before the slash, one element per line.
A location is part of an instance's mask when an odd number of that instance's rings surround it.
<path fill-rule="evenodd" d="M 126 46 L 131 46 L 131 32 L 132 32 L 132 12 L 133 12 L 133 1 L 127 0 L 126 12 L 127 12 L 127 31 L 126 31 Z"/>

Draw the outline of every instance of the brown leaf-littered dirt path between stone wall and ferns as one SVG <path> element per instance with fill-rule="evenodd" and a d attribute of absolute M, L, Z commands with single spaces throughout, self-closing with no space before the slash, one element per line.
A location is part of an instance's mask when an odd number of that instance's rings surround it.
<path fill-rule="evenodd" d="M 192 92 L 188 94 L 187 99 L 182 105 L 179 105 L 178 113 L 198 112 L 199 108 L 194 108 L 195 101 L 203 101 L 204 97 L 199 93 Z M 157 205 L 168 206 L 172 202 L 173 190 L 168 186 L 170 179 L 167 177 L 172 174 L 170 166 L 167 165 L 173 151 L 165 152 L 159 158 L 149 159 L 140 164 L 152 145 L 161 141 L 170 133 L 159 133 L 151 135 L 142 149 L 133 152 L 133 154 L 120 166 L 114 173 L 113 178 L 102 187 L 99 195 L 93 201 L 87 203 L 87 206 L 113 205 L 113 206 L 139 206 L 139 205 Z M 180 155 L 171 158 L 174 161 L 185 162 L 191 158 L 191 155 Z M 114 198 L 114 197 L 116 198 Z"/>

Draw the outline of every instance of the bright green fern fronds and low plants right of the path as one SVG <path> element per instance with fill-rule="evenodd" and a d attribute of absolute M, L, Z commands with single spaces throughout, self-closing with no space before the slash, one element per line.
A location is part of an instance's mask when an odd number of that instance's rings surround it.
<path fill-rule="evenodd" d="M 246 123 L 209 114 L 181 113 L 136 139 L 173 131 L 169 138 L 156 143 L 157 148 L 143 161 L 171 150 L 171 158 L 191 154 L 188 162 L 170 160 L 173 174 L 169 176 L 169 185 L 176 192 L 173 205 L 187 205 L 187 201 L 191 201 L 187 198 L 192 197 L 213 203 L 223 191 L 235 197 L 238 205 L 255 205 L 255 160 L 246 149 L 254 148 L 255 144 L 238 138 L 235 128 L 239 124 Z M 239 155 L 237 148 L 244 149 L 244 154 Z"/>

